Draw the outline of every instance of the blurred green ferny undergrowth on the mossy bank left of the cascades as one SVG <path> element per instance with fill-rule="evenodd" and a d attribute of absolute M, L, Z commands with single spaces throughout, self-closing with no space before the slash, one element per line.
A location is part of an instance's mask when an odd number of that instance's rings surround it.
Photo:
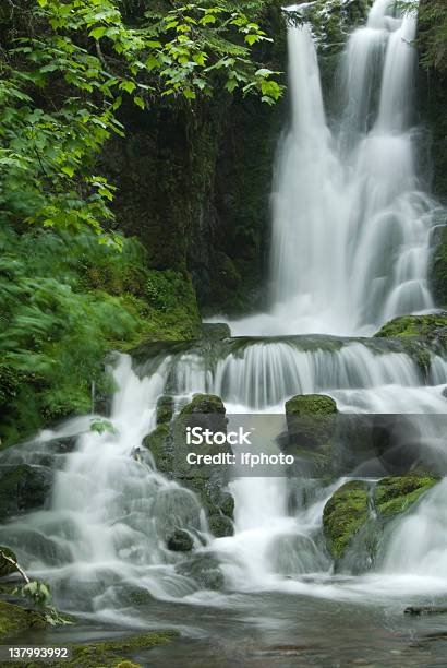
<path fill-rule="evenodd" d="M 192 338 L 200 317 L 188 274 L 148 269 L 143 247 L 122 252 L 90 234 L 0 232 L 2 445 L 88 411 L 111 391 L 110 350 Z"/>

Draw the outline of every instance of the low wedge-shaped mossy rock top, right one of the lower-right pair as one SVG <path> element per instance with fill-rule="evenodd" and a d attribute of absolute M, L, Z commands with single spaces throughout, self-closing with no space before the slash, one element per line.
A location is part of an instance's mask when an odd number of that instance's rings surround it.
<path fill-rule="evenodd" d="M 402 476 L 383 478 L 375 488 L 377 513 L 389 517 L 403 513 L 439 481 L 434 476 Z"/>

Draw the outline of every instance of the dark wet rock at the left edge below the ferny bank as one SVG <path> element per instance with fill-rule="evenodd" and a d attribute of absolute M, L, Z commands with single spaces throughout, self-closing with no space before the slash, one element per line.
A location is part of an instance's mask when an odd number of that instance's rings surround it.
<path fill-rule="evenodd" d="M 44 466 L 0 467 L 0 517 L 44 508 L 49 500 L 53 473 Z"/>

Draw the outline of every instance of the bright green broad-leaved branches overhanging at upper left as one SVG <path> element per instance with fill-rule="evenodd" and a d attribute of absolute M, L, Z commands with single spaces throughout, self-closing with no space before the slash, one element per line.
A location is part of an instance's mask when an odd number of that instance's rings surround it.
<path fill-rule="evenodd" d="M 4 220 L 102 236 L 114 188 L 97 174 L 105 142 L 124 129 L 123 97 L 191 105 L 216 86 L 274 104 L 276 72 L 251 58 L 269 39 L 231 3 L 140 12 L 119 0 L 20 0 L 0 11 L 0 210 Z M 183 100 L 183 103 L 181 103 Z"/>

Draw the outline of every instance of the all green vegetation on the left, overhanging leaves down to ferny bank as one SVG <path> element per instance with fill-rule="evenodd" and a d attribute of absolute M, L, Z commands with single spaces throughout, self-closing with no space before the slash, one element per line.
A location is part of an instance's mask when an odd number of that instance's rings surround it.
<path fill-rule="evenodd" d="M 122 105 L 192 117 L 216 88 L 274 104 L 263 2 L 17 0 L 0 9 L 0 437 L 85 413 L 110 391 L 104 359 L 149 339 L 197 337 L 184 267 L 161 272 L 117 229 L 101 174 Z M 124 119 L 122 118 L 124 116 Z M 99 243 L 98 243 L 98 242 Z M 154 261 L 154 259 L 152 259 Z"/>

